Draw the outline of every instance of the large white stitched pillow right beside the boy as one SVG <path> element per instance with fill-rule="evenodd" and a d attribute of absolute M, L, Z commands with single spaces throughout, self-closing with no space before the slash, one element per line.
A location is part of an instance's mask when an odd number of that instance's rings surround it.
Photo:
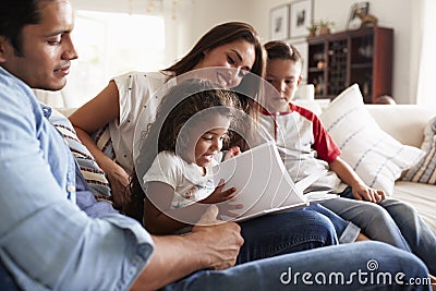
<path fill-rule="evenodd" d="M 319 118 L 341 148 L 340 157 L 368 186 L 384 190 L 387 195 L 392 194 L 402 171 L 424 154 L 420 148 L 401 144 L 378 126 L 364 107 L 358 84 L 336 97 Z"/>

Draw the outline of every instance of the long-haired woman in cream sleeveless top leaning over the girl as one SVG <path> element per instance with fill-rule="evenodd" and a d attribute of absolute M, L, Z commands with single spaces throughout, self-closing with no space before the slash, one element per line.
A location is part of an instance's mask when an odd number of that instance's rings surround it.
<path fill-rule="evenodd" d="M 125 186 L 134 168 L 133 138 L 140 114 L 144 111 L 148 120 L 153 120 L 156 106 L 165 95 L 156 95 L 159 88 L 173 86 L 175 82 L 172 81 L 175 76 L 205 68 L 229 69 L 231 73 L 221 72 L 207 76 L 228 87 L 244 86 L 245 81 L 242 81 L 247 72 L 263 76 L 265 59 L 257 32 L 250 24 L 241 22 L 217 25 L 170 68 L 159 72 L 131 72 L 117 76 L 100 94 L 70 117 L 77 136 L 108 175 L 118 206 L 123 206 L 130 201 L 130 192 L 125 191 Z M 250 87 L 253 92 L 257 90 L 255 86 Z M 252 110 L 251 106 L 245 106 L 245 109 L 247 113 L 253 114 L 257 111 Z M 93 132 L 107 124 L 114 160 L 106 156 L 90 138 Z M 142 128 L 146 125 L 141 124 Z"/>

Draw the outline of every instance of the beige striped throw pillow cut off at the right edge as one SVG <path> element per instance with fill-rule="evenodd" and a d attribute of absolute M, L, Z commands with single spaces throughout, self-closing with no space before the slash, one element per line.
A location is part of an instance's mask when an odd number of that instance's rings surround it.
<path fill-rule="evenodd" d="M 425 151 L 425 155 L 407 172 L 402 180 L 436 184 L 436 117 L 431 119 L 425 128 L 421 149 Z"/>

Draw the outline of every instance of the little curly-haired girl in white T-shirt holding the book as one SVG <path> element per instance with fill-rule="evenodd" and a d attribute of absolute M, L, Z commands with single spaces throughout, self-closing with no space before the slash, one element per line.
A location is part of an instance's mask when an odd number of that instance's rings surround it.
<path fill-rule="evenodd" d="M 194 80 L 173 87 L 162 101 L 138 162 L 146 171 L 143 222 L 150 232 L 181 231 L 198 220 L 205 205 L 233 197 L 234 189 L 216 187 L 211 170 L 239 108 L 230 90 Z M 226 158 L 238 154 L 233 147 Z"/>

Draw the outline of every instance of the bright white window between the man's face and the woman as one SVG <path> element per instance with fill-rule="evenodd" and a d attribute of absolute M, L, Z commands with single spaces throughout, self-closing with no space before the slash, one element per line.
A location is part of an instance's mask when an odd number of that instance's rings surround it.
<path fill-rule="evenodd" d="M 66 107 L 94 98 L 118 74 L 165 68 L 162 16 L 78 10 L 72 37 L 78 59 L 61 92 Z"/>

